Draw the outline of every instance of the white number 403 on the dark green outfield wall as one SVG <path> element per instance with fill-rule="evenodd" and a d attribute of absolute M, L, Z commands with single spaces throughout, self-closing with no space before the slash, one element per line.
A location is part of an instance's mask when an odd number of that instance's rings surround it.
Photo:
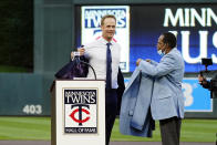
<path fill-rule="evenodd" d="M 42 113 L 42 105 L 27 104 L 22 108 L 22 112 L 24 114 L 31 114 L 31 115 L 41 114 Z"/>

